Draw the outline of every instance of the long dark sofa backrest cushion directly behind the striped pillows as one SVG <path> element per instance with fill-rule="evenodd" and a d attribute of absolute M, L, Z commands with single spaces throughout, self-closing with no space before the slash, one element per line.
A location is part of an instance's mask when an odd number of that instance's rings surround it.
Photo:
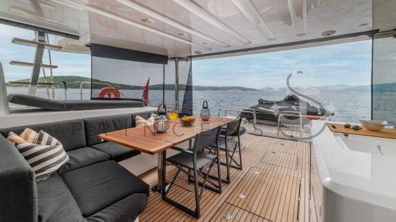
<path fill-rule="evenodd" d="M 9 132 L 21 134 L 21 132 L 25 130 L 25 127 L 26 126 L 12 127 L 0 130 L 0 132 L 3 134 L 3 136 L 7 137 Z M 54 136 L 59 141 L 61 141 L 65 151 L 78 149 L 80 147 L 87 147 L 87 143 L 85 142 L 84 121 L 82 119 L 30 125 L 29 127 L 36 132 L 43 130 L 51 136 Z"/>

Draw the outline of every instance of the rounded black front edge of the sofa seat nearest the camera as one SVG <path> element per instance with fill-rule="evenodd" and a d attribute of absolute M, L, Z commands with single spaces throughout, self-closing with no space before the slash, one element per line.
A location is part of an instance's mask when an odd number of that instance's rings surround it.
<path fill-rule="evenodd" d="M 129 195 L 91 217 L 87 217 L 87 221 L 135 221 L 146 208 L 147 199 L 144 193 Z"/>

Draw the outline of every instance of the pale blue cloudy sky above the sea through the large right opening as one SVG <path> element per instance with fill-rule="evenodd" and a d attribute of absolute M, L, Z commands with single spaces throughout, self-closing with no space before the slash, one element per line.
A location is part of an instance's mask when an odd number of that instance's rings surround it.
<path fill-rule="evenodd" d="M 245 56 L 196 60 L 193 83 L 201 86 L 283 88 L 289 73 L 301 86 L 371 84 L 371 40 Z M 300 81 L 302 80 L 302 81 Z"/>

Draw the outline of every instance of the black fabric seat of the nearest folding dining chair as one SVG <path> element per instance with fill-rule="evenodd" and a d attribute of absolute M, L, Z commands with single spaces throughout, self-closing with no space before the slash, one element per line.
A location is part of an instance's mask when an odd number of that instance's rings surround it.
<path fill-rule="evenodd" d="M 189 169 L 193 169 L 192 165 L 192 153 L 186 151 L 177 153 L 175 156 L 171 156 L 170 158 L 166 159 L 173 164 L 181 165 L 182 167 L 187 167 Z M 208 153 L 197 153 L 197 167 L 200 169 L 201 167 L 205 166 L 212 162 L 212 160 L 216 158 L 216 156 Z"/>

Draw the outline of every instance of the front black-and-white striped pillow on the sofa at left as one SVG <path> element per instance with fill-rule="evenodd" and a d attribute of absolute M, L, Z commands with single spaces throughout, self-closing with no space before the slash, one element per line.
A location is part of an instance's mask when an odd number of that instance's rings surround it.
<path fill-rule="evenodd" d="M 37 181 L 50 177 L 63 164 L 69 162 L 69 156 L 61 142 L 43 130 L 39 132 L 36 143 L 17 141 L 16 146 L 32 167 Z"/>

